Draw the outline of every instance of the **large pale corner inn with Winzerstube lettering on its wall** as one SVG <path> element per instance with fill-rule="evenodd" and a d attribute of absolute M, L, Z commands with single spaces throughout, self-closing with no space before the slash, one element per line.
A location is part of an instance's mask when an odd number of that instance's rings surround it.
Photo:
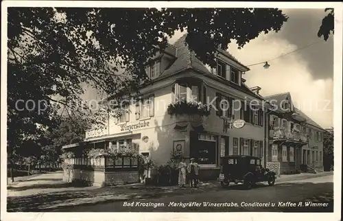
<path fill-rule="evenodd" d="M 265 106 L 263 97 L 244 83 L 248 67 L 218 49 L 217 67 L 210 69 L 188 49 L 185 38 L 154 56 L 147 66 L 154 83 L 140 90 L 141 102 L 130 104 L 119 119 L 109 117 L 107 128 L 86 132 L 86 143 L 95 148 L 124 148 L 134 143 L 157 165 L 167 163 L 171 152 L 180 152 L 186 159 L 197 159 L 202 180 L 217 178 L 223 155 L 261 156 L 265 165 Z M 214 108 L 209 116 L 170 115 L 167 107 L 180 100 L 211 103 Z M 233 128 L 235 119 L 244 119 L 244 126 Z"/>

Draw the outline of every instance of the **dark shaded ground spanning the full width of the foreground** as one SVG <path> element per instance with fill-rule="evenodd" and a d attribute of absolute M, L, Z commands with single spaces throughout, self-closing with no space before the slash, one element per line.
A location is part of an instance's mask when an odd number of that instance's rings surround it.
<path fill-rule="evenodd" d="M 315 190 L 315 191 L 314 191 Z M 211 193 L 210 193 L 211 192 Z M 320 193 L 320 194 L 318 194 Z M 187 196 L 180 196 L 187 195 Z M 204 196 L 206 195 L 206 196 Z M 230 201 L 240 203 L 242 200 L 265 200 L 276 202 L 279 200 L 289 200 L 302 198 L 302 200 L 314 200 L 316 202 L 329 202 L 329 207 L 312 208 L 263 208 L 257 211 L 285 211 L 285 212 L 303 212 L 303 211 L 333 211 L 333 183 L 281 183 L 269 187 L 259 184 L 257 187 L 246 190 L 243 185 L 233 185 L 222 188 L 220 185 L 212 187 L 200 187 L 198 189 L 178 189 L 178 188 L 116 188 L 104 187 L 99 189 L 86 189 L 82 191 L 59 191 L 48 194 L 36 194 L 32 196 L 14 196 L 8 197 L 8 212 L 47 212 L 47 211 L 89 211 L 89 212 L 109 212 L 109 211 L 247 211 L 244 208 L 170 208 L 162 207 L 153 209 L 150 207 L 130 207 L 122 206 L 122 201 L 133 202 L 140 200 L 142 202 L 165 202 L 171 200 L 215 200 L 213 196 L 219 195 L 220 198 L 230 198 Z M 202 196 L 204 196 L 202 198 Z M 261 199 L 261 196 L 263 199 Z M 192 199 L 193 198 L 193 199 Z M 247 199 L 244 199 L 247 198 Z M 201 201 L 202 202 L 202 201 Z M 115 205 L 114 205 L 114 204 Z M 82 209 L 84 208 L 84 209 Z"/>

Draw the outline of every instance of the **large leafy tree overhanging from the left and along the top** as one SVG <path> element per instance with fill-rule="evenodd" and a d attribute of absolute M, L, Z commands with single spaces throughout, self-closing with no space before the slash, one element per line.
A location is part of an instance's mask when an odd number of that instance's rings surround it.
<path fill-rule="evenodd" d="M 54 126 L 61 108 L 102 122 L 108 110 L 82 102 L 84 84 L 119 102 L 138 95 L 145 62 L 176 30 L 187 28 L 189 48 L 213 67 L 218 47 L 233 39 L 244 47 L 286 21 L 281 10 L 260 8 L 8 8 L 9 157 Z"/>

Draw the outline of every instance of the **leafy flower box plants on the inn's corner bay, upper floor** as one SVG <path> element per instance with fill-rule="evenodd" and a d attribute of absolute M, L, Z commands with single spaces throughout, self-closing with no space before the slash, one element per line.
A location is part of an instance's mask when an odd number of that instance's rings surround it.
<path fill-rule="evenodd" d="M 211 105 L 202 104 L 201 102 L 186 102 L 182 100 L 175 104 L 169 104 L 167 108 L 169 115 L 200 115 L 209 116 L 211 114 Z"/>

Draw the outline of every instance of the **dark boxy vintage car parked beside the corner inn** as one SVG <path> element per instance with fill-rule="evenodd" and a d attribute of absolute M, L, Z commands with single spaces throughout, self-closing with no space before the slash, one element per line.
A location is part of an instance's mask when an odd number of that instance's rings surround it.
<path fill-rule="evenodd" d="M 268 182 L 270 186 L 275 183 L 275 173 L 263 168 L 259 157 L 233 155 L 222 156 L 220 160 L 221 171 L 218 180 L 222 187 L 228 186 L 230 182 L 243 183 L 247 189 L 251 189 L 259 182 Z"/>

